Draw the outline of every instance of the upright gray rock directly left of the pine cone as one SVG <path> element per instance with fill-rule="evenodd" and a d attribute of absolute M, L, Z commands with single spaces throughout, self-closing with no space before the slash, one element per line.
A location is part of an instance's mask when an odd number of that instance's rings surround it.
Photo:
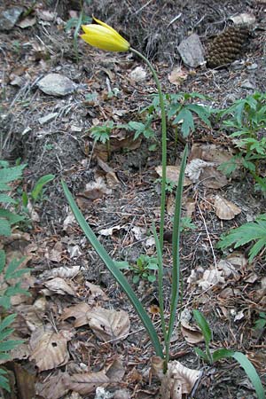
<path fill-rule="evenodd" d="M 192 34 L 184 39 L 177 47 L 177 50 L 184 64 L 192 67 L 204 64 L 204 49 L 198 35 Z"/>

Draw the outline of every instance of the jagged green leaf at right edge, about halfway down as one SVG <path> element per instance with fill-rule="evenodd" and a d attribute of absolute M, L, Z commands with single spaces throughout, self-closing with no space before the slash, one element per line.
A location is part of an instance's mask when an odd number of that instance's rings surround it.
<path fill-rule="evenodd" d="M 253 243 L 254 242 L 254 243 Z M 217 243 L 217 247 L 225 249 L 229 246 L 238 248 L 252 243 L 249 249 L 249 262 L 259 254 L 266 246 L 266 214 L 258 215 L 254 222 L 244 223 L 236 229 L 232 229 Z"/>

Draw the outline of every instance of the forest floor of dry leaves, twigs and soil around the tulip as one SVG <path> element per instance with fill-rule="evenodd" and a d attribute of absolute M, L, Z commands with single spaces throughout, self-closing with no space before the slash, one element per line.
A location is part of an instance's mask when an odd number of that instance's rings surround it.
<path fill-rule="evenodd" d="M 74 222 L 60 183 L 65 180 L 115 261 L 134 264 L 141 254 L 156 257 L 151 227 L 153 222 L 156 226 L 160 222 L 160 176 L 156 172 L 161 164 L 160 117 L 152 123 L 155 135 L 151 138 L 140 136 L 134 140 L 132 132 L 115 128 L 129 121 L 144 121 L 140 111 L 152 103 L 156 93 L 152 75 L 131 53 L 98 51 L 80 39 L 77 60 L 74 28 L 66 32 L 67 20 L 79 15 L 75 2 L 37 1 L 34 6 L 26 0 L 10 3 L 1 3 L 0 12 L 7 5 L 22 6 L 24 12 L 29 12 L 10 31 L 0 33 L 0 158 L 11 164 L 18 159 L 27 163 L 23 187 L 16 187 L 17 192 L 23 189 L 29 195 L 39 177 L 52 174 L 55 178 L 45 186 L 41 200 L 28 204 L 31 223 L 1 244 L 10 257 L 27 256 L 27 267 L 32 270 L 25 281 L 32 295 L 20 295 L 13 303 L 13 311 L 19 315 L 16 333 L 25 342 L 12 356 L 9 368 L 15 370 L 17 380 L 13 394 L 6 397 L 94 398 L 95 388 L 91 388 L 88 372 L 93 373 L 94 380 L 106 382 L 106 394 L 101 397 L 156 397 L 160 384 L 149 373 L 154 356 L 151 342 L 125 293 Z M 153 61 L 165 93 L 197 92 L 211 99 L 198 98 L 194 102 L 223 109 L 254 91 L 266 92 L 263 1 L 87 3 L 86 15 L 106 21 Z M 207 47 L 215 35 L 232 24 L 232 17 L 244 12 L 254 16 L 254 22 L 236 62 L 215 69 L 205 64 L 196 68 L 184 65 L 177 51 L 182 40 L 196 33 Z M 139 66 L 141 69 L 136 70 Z M 38 82 L 51 73 L 69 78 L 75 90 L 66 96 L 45 94 Z M 106 145 L 94 143 L 90 128 L 110 121 L 114 128 L 108 153 Z M 178 140 L 177 146 L 175 129 L 168 126 L 168 165 L 173 167 L 174 176 L 185 143 L 189 145 L 189 162 L 201 159 L 221 163 L 235 151 L 226 129 L 215 123 L 208 127 L 197 119 L 195 126 L 188 137 Z M 242 173 L 228 178 L 217 171 L 218 163 L 212 169 L 213 176 L 201 176 L 184 187 L 183 216 L 189 217 L 193 225 L 184 230 L 181 239 L 183 300 L 178 315 L 183 311 L 183 318 L 179 317 L 178 322 L 176 316 L 170 353 L 172 360 L 201 372 L 192 395 L 187 397 L 252 399 L 256 397 L 254 389 L 239 364 L 227 359 L 208 365 L 196 356 L 193 348 L 204 349 L 202 336 L 199 340 L 200 332 L 192 318 L 184 321 L 184 314 L 200 309 L 213 332 L 211 348 L 245 353 L 265 386 L 265 334 L 254 331 L 259 312 L 266 307 L 265 260 L 257 256 L 249 263 L 248 247 L 223 253 L 215 245 L 232 227 L 264 213 L 266 201 L 262 192 L 254 190 L 252 176 Z M 217 198 L 230 201 L 239 212 L 231 220 L 218 217 Z M 168 192 L 166 317 L 171 288 L 172 217 L 173 193 Z M 233 272 L 226 273 L 224 263 Z M 219 273 L 220 279 L 212 281 L 206 272 L 211 275 L 211 270 L 217 268 L 223 272 Z M 125 274 L 160 334 L 156 281 L 141 278 L 134 284 L 132 271 Z M 106 332 L 88 322 L 88 312 L 98 309 Z M 121 328 L 119 333 L 110 321 L 112 317 L 113 324 L 118 324 L 116 328 Z M 56 349 L 48 348 L 48 340 Z M 81 375 L 86 379 L 79 378 Z"/>

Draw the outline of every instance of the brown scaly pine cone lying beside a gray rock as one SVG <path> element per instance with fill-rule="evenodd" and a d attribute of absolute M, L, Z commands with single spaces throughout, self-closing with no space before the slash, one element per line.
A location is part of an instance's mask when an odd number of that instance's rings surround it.
<path fill-rule="evenodd" d="M 249 29 L 246 26 L 228 27 L 217 35 L 207 47 L 207 66 L 215 68 L 238 59 L 248 35 Z"/>

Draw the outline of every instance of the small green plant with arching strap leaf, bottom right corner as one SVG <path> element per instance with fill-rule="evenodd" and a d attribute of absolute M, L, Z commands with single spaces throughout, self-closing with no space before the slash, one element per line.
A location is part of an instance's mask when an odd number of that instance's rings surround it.
<path fill-rule="evenodd" d="M 222 360 L 223 358 L 232 357 L 246 372 L 247 377 L 251 380 L 256 394 L 259 399 L 265 399 L 265 391 L 262 386 L 262 381 L 255 371 L 254 365 L 248 360 L 248 358 L 241 352 L 235 352 L 231 349 L 216 349 L 211 351 L 209 348 L 210 342 L 212 340 L 212 331 L 207 323 L 206 318 L 202 315 L 199 310 L 193 310 L 193 316 L 200 327 L 200 331 L 205 340 L 206 350 L 205 352 L 200 348 L 195 348 L 196 354 L 202 358 L 208 364 L 214 364 L 215 362 Z"/>

